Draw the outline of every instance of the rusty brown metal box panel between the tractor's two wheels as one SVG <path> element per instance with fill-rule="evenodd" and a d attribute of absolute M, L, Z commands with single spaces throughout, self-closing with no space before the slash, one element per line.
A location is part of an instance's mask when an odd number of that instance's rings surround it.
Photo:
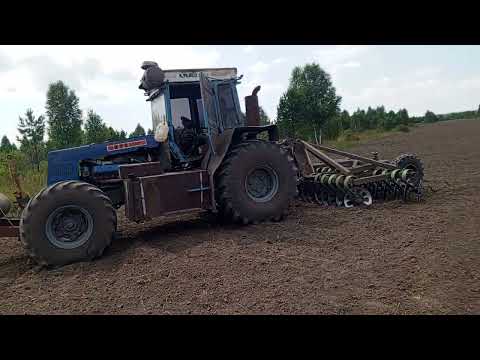
<path fill-rule="evenodd" d="M 146 176 L 139 181 L 143 212 L 147 218 L 211 208 L 210 181 L 205 170 Z"/>

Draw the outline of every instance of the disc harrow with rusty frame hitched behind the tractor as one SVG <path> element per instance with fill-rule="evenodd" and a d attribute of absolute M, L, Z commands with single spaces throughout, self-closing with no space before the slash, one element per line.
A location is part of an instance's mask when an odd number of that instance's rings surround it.
<path fill-rule="evenodd" d="M 387 161 L 379 160 L 377 153 L 367 158 L 304 141 L 289 148 L 299 168 L 298 190 L 303 201 L 351 208 L 370 206 L 374 200 L 418 201 L 423 195 L 423 164 L 413 154 Z"/>

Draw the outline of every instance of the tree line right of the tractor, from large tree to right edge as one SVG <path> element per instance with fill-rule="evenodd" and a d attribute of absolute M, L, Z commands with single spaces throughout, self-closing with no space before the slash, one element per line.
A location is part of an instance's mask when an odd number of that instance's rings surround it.
<path fill-rule="evenodd" d="M 340 109 L 341 101 L 330 75 L 320 65 L 295 67 L 277 107 L 276 123 L 281 136 L 318 142 L 365 130 L 408 131 L 416 123 L 480 118 L 480 105 L 477 111 L 445 115 L 427 111 L 424 116 L 411 117 L 406 109 L 387 111 L 384 106 L 357 109 L 350 114 Z"/>

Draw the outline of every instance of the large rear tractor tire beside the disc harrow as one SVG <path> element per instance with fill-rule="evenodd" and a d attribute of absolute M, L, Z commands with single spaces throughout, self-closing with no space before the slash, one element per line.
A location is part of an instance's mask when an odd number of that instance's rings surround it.
<path fill-rule="evenodd" d="M 222 219 L 280 220 L 297 194 L 296 173 L 293 158 L 277 144 L 255 140 L 235 146 L 215 181 Z"/>

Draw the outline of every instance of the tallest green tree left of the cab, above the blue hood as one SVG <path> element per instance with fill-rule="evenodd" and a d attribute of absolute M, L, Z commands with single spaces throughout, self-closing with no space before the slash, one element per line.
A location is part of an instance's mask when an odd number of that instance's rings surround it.
<path fill-rule="evenodd" d="M 79 99 L 62 81 L 52 83 L 47 91 L 49 147 L 64 149 L 82 143 L 82 111 Z"/>

